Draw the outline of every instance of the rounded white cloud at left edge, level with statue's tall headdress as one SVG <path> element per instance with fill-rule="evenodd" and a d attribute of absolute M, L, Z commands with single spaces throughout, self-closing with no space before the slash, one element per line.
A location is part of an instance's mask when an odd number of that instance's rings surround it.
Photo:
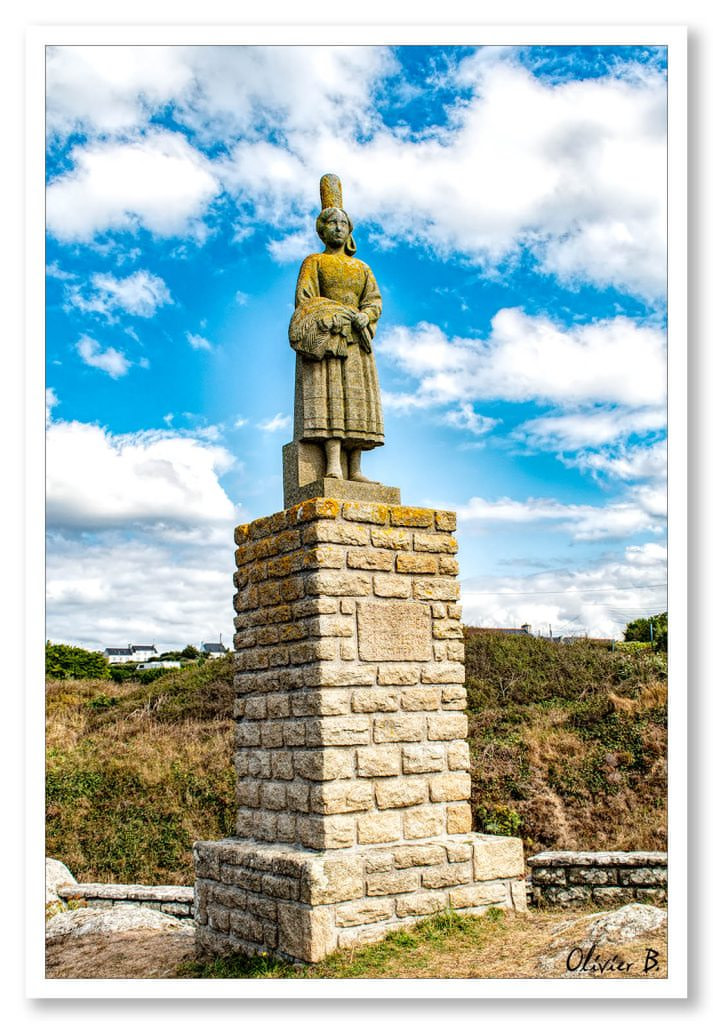
<path fill-rule="evenodd" d="M 72 170 L 47 186 L 47 227 L 62 242 L 145 227 L 205 234 L 200 218 L 219 190 L 210 162 L 176 132 L 75 146 Z"/>

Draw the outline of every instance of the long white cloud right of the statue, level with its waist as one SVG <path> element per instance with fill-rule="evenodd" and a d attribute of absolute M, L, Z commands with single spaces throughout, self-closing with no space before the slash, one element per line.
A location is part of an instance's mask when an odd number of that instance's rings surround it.
<path fill-rule="evenodd" d="M 380 352 L 419 379 L 421 406 L 499 398 L 647 407 L 666 396 L 664 333 L 625 316 L 565 329 L 544 315 L 500 309 L 485 340 L 449 339 L 421 323 L 385 332 Z"/>

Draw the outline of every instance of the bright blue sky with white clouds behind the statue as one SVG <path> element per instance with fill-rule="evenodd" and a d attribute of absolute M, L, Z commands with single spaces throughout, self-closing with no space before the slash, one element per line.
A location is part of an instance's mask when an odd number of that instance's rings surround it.
<path fill-rule="evenodd" d="M 47 128 L 50 639 L 230 636 L 327 171 L 384 299 L 365 469 L 458 512 L 465 621 L 663 610 L 665 51 L 56 47 Z"/>

